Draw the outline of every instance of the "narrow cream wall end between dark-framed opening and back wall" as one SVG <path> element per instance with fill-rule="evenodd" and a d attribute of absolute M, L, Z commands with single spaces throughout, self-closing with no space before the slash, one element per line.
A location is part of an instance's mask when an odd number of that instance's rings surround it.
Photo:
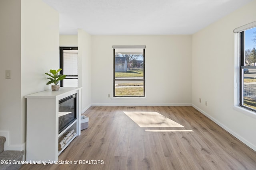
<path fill-rule="evenodd" d="M 91 35 L 78 29 L 78 86 L 82 87 L 82 112 L 92 103 L 92 40 Z"/>

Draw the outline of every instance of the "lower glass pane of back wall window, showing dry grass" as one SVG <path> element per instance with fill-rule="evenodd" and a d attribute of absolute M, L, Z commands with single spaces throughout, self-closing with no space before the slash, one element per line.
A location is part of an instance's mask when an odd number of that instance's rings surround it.
<path fill-rule="evenodd" d="M 116 80 L 115 96 L 144 96 L 144 80 Z"/>

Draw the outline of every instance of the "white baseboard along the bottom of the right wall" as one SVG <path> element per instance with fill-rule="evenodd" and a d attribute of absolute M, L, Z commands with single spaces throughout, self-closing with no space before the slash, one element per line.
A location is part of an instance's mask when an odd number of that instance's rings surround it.
<path fill-rule="evenodd" d="M 198 111 L 200 111 L 202 114 L 204 114 L 206 117 L 208 117 L 209 119 L 211 119 L 212 121 L 214 121 L 217 125 L 219 125 L 220 127 L 222 127 L 223 129 L 225 129 L 226 131 L 228 131 L 228 133 L 230 133 L 231 135 L 233 135 L 234 137 L 236 137 L 237 139 L 239 139 L 242 143 L 244 143 L 245 145 L 247 145 L 248 147 L 250 147 L 251 149 L 253 149 L 254 151 L 256 151 L 256 146 L 253 145 L 252 143 L 250 143 L 249 141 L 247 141 L 246 139 L 244 139 L 243 137 L 241 137 L 240 135 L 238 135 L 237 133 L 235 133 L 234 131 L 232 131 L 231 129 L 229 129 L 228 127 L 226 127 L 225 125 L 223 125 L 222 123 L 220 123 L 218 120 L 216 120 L 214 117 L 212 117 L 211 115 L 209 115 L 208 113 L 206 113 L 205 111 L 203 111 L 202 109 L 200 109 L 199 107 L 195 106 L 194 104 L 192 104 L 192 107 L 194 107 L 195 109 L 197 109 Z"/>

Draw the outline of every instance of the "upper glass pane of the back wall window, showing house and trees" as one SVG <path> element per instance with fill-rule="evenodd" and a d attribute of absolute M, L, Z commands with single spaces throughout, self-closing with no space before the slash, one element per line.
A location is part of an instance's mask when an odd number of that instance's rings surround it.
<path fill-rule="evenodd" d="M 144 79 L 143 49 L 115 49 L 115 78 Z"/>

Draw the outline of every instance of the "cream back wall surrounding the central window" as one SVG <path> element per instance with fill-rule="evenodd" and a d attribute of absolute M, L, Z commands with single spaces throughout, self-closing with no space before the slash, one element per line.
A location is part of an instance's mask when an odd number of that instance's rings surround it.
<path fill-rule="evenodd" d="M 146 45 L 146 99 L 113 99 L 112 45 Z M 92 105 L 191 104 L 191 35 L 93 35 Z"/>

